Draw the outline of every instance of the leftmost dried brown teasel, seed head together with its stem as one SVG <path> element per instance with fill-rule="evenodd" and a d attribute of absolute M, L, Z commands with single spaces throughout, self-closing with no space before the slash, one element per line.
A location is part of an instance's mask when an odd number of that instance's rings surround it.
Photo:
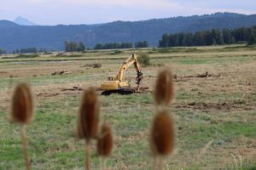
<path fill-rule="evenodd" d="M 20 124 L 20 138 L 24 150 L 24 158 L 26 169 L 30 169 L 29 158 L 27 154 L 26 142 L 26 123 L 32 122 L 33 116 L 33 101 L 31 88 L 26 83 L 20 83 L 15 88 L 15 93 L 12 98 L 12 121 Z"/>

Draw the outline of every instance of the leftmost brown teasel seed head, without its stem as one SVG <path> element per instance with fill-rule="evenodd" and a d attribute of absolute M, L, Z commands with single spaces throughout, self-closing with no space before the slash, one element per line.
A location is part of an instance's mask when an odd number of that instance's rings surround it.
<path fill-rule="evenodd" d="M 31 88 L 27 83 L 20 83 L 15 88 L 12 98 L 12 121 L 26 124 L 32 121 L 33 101 Z"/>

